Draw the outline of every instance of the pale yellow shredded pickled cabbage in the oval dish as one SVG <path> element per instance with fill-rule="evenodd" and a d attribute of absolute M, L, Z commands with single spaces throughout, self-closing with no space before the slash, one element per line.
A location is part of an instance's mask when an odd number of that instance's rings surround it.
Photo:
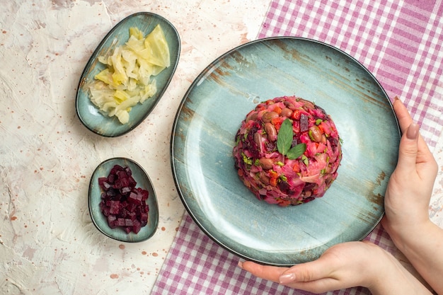
<path fill-rule="evenodd" d="M 89 87 L 91 102 L 100 112 L 126 124 L 130 110 L 157 91 L 153 78 L 171 65 L 168 42 L 160 25 L 146 37 L 139 28 L 130 28 L 130 37 L 109 56 L 98 57 L 106 67 L 96 74 Z"/>

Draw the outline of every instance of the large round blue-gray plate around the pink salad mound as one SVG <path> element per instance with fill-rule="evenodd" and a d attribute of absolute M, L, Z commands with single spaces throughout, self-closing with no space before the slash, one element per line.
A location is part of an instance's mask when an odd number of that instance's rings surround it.
<path fill-rule="evenodd" d="M 232 149 L 255 105 L 292 95 L 331 115 L 343 161 L 323 197 L 278 207 L 238 179 Z M 272 37 L 226 52 L 197 76 L 176 114 L 171 166 L 185 208 L 210 238 L 247 260 L 294 265 L 374 229 L 399 140 L 391 102 L 362 64 L 321 42 Z"/>

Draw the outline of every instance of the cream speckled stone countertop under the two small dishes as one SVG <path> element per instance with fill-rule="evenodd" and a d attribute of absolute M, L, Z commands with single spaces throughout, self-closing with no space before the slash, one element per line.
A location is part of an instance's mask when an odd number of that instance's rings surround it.
<path fill-rule="evenodd" d="M 0 12 L 0 294 L 149 294 L 184 207 L 169 141 L 178 105 L 213 59 L 254 40 L 270 1 L 6 1 Z M 88 131 L 76 87 L 93 50 L 138 11 L 177 28 L 181 55 L 159 104 L 117 138 Z M 137 161 L 154 182 L 159 228 L 149 241 L 101 234 L 88 212 L 93 170 Z"/>

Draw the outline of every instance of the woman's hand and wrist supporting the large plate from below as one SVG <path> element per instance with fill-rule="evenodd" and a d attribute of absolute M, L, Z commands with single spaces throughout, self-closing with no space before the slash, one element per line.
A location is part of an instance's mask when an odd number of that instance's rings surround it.
<path fill-rule="evenodd" d="M 367 241 L 335 245 L 318 260 L 290 268 L 250 261 L 238 265 L 257 277 L 313 293 L 362 286 L 374 295 L 430 294 L 396 258 Z"/>

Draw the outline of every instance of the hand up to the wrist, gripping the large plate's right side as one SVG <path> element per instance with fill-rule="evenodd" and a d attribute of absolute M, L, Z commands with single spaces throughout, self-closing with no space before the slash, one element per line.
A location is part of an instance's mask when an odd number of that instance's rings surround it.
<path fill-rule="evenodd" d="M 430 222 L 429 203 L 437 176 L 437 163 L 401 100 L 396 98 L 393 108 L 403 136 L 396 170 L 386 189 L 386 216 L 382 224 L 394 242 L 402 243 L 404 236 L 422 231 L 423 226 Z"/>

